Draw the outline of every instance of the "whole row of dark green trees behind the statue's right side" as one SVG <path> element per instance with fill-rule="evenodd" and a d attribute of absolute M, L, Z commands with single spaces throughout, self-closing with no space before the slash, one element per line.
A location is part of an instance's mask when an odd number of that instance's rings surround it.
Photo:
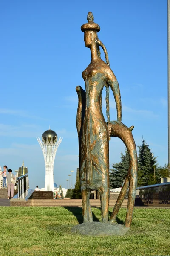
<path fill-rule="evenodd" d="M 157 157 L 154 156 L 149 145 L 142 138 L 142 145 L 138 146 L 138 186 L 147 186 L 161 183 L 161 177 L 169 177 L 168 165 L 159 166 Z M 110 170 L 110 187 L 122 187 L 123 180 L 127 177 L 129 168 L 129 154 L 125 149 L 125 154 L 121 153 L 121 161 L 113 163 Z"/>

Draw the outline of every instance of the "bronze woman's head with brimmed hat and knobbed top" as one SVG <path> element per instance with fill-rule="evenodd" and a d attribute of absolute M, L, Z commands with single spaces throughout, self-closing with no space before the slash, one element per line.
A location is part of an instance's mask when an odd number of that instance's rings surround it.
<path fill-rule="evenodd" d="M 82 32 L 85 33 L 84 41 L 86 47 L 91 47 L 92 42 L 97 38 L 97 32 L 100 31 L 100 26 L 94 22 L 94 16 L 92 12 L 88 13 L 88 23 L 81 26 Z"/>

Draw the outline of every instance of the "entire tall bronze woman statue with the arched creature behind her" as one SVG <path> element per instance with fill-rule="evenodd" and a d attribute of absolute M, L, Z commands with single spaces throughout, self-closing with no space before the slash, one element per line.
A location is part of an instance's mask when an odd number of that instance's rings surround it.
<path fill-rule="evenodd" d="M 109 140 L 111 136 L 122 139 L 130 155 L 130 168 L 127 179 L 120 192 L 118 201 L 113 209 L 110 221 L 116 215 L 122 204 L 129 186 L 129 202 L 125 226 L 130 227 L 137 182 L 137 155 L 136 146 L 131 134 L 133 126 L 127 128 L 122 124 L 122 108 L 119 84 L 113 71 L 109 67 L 108 53 L 105 46 L 99 41 L 98 24 L 94 23 L 91 12 L 88 13 L 88 23 L 81 26 L 84 32 L 85 46 L 91 50 L 91 62 L 82 72 L 85 81 L 85 90 L 77 86 L 78 109 L 77 131 L 79 137 L 79 170 L 82 193 L 82 215 L 84 222 L 93 221 L 89 202 L 90 192 L 98 190 L 101 198 L 102 222 L 108 222 L 109 207 Z M 105 53 L 106 63 L 100 58 L 100 49 Z M 102 113 L 102 90 L 106 88 L 106 115 Z M 110 121 L 109 116 L 109 87 L 113 91 L 116 101 L 117 121 Z"/>

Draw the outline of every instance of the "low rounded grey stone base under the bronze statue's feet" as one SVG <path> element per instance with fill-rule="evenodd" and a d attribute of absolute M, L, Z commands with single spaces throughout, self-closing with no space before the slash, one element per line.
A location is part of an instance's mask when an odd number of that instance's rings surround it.
<path fill-rule="evenodd" d="M 71 228 L 71 233 L 88 236 L 123 236 L 129 230 L 117 223 L 86 222 Z"/>

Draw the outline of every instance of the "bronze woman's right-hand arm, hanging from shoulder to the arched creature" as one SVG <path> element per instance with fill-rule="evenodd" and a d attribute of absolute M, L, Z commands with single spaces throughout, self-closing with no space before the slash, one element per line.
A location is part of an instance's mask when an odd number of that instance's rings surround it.
<path fill-rule="evenodd" d="M 111 87 L 111 90 L 113 91 L 114 99 L 116 102 L 117 121 L 121 122 L 122 121 L 122 104 L 121 104 L 119 83 L 116 79 L 116 76 L 113 74 L 112 70 L 109 70 L 107 75 L 108 75 L 107 84 Z"/>

